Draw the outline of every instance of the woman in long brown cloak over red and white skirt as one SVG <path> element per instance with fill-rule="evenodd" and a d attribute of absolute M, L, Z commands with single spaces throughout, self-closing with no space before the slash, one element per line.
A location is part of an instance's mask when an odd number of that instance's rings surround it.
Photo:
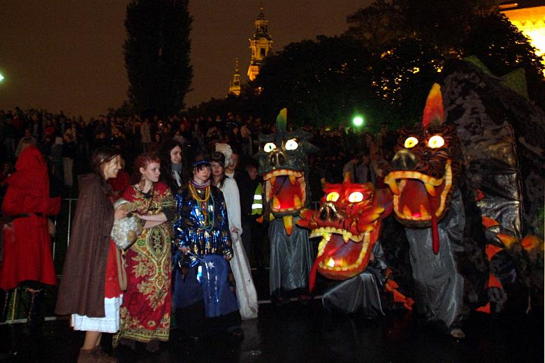
<path fill-rule="evenodd" d="M 92 156 L 94 172 L 79 179 L 80 193 L 75 209 L 70 244 L 62 271 L 57 307 L 58 315 L 71 314 L 71 326 L 85 331 L 78 363 L 117 360 L 101 349 L 103 332 L 119 330 L 119 307 L 123 301 L 122 269 L 119 249 L 110 237 L 114 219 L 126 217 L 122 207 L 113 208 L 108 182 L 121 170 L 119 151 L 101 147 Z"/>

